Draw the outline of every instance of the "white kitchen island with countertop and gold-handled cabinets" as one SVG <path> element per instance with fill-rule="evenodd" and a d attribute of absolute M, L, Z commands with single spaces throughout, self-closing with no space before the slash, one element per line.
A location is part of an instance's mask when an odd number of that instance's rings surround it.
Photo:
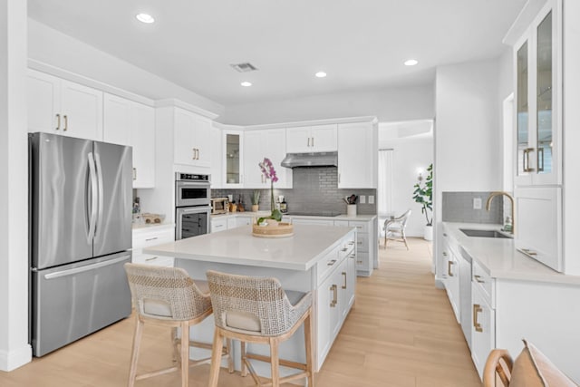
<path fill-rule="evenodd" d="M 252 227 L 237 227 L 214 234 L 181 239 L 144 248 L 146 254 L 172 256 L 175 266 L 194 279 L 218 270 L 245 276 L 275 276 L 286 290 L 313 292 L 314 369 L 318 371 L 354 302 L 356 283 L 356 228 L 295 225 L 294 236 L 253 237 Z M 193 340 L 212 343 L 214 321 L 191 328 Z M 205 357 L 191 349 L 192 356 Z M 236 368 L 239 348 L 234 346 Z M 249 352 L 268 354 L 264 345 L 249 345 Z M 304 329 L 280 347 L 280 356 L 304 363 Z M 267 376 L 269 365 L 256 363 Z M 287 372 L 284 367 L 281 372 Z"/>

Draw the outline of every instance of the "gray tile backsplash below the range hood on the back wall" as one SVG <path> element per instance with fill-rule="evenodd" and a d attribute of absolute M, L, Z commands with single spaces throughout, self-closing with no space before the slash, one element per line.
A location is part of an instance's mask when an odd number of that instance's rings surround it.
<path fill-rule="evenodd" d="M 242 198 L 244 208 L 250 210 L 254 189 L 212 189 L 213 198 L 234 195 L 236 202 Z M 261 189 L 260 209 L 270 209 L 270 189 Z M 284 195 L 288 212 L 339 212 L 346 214 L 346 203 L 343 198 L 350 195 L 364 195 L 366 204 L 357 206 L 360 215 L 377 213 L 376 189 L 338 189 L 338 169 L 336 167 L 310 167 L 293 169 L 293 189 L 276 189 L 274 195 Z M 368 204 L 369 196 L 374 196 L 374 204 Z"/>

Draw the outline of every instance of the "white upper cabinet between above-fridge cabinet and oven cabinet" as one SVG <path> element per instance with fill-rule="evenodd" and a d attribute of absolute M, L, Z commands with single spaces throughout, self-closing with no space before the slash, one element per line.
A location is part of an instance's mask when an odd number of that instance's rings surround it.
<path fill-rule="evenodd" d="M 155 111 L 104 93 L 103 140 L 133 148 L 133 188 L 155 186 Z"/>

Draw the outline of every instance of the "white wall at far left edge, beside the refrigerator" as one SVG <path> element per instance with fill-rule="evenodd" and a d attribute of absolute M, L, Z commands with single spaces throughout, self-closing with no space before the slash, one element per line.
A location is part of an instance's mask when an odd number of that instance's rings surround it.
<path fill-rule="evenodd" d="M 30 362 L 26 2 L 0 2 L 0 370 Z"/>

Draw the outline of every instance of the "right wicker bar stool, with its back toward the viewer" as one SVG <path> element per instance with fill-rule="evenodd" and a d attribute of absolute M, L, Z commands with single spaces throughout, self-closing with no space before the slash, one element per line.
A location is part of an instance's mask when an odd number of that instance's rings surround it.
<path fill-rule="evenodd" d="M 283 382 L 307 378 L 308 387 L 314 387 L 312 294 L 285 292 L 276 278 L 236 276 L 212 270 L 207 276 L 216 321 L 208 385 L 218 386 L 222 353 L 217 350 L 217 345 L 226 337 L 241 342 L 242 375 L 246 376 L 249 369 L 256 385 L 278 387 Z M 303 323 L 306 363 L 280 359 L 279 344 L 289 339 Z M 246 353 L 246 343 L 269 344 L 270 356 Z M 260 381 L 249 359 L 271 363 L 271 382 Z M 301 372 L 281 378 L 280 365 Z"/>

